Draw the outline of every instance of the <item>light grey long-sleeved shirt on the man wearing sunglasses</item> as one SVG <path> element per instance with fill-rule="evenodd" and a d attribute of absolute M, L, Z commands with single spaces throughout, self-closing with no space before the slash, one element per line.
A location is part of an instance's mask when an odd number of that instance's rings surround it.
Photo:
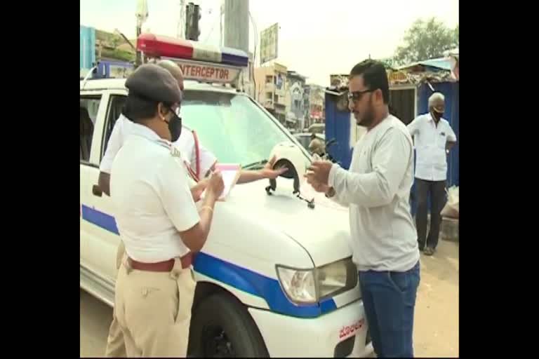
<path fill-rule="evenodd" d="M 410 212 L 413 148 L 408 129 L 392 115 L 357 142 L 350 171 L 334 164 L 333 199 L 350 208 L 353 260 L 359 271 L 408 271 L 419 260 Z"/>

